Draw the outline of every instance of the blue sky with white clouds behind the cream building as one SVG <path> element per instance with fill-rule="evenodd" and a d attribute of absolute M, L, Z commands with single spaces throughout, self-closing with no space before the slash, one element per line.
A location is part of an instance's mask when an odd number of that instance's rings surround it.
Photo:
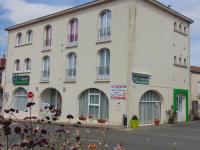
<path fill-rule="evenodd" d="M 89 1 L 92 0 L 0 0 L 0 55 L 7 47 L 6 27 Z M 195 21 L 191 26 L 191 65 L 200 66 L 200 0 L 158 1 Z"/>

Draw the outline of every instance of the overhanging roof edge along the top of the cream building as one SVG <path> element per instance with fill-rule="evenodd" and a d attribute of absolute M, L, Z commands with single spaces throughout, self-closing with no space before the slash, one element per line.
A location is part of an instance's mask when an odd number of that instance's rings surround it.
<path fill-rule="evenodd" d="M 76 6 L 76 7 L 72 7 L 72 8 L 69 8 L 69 9 L 65 9 L 63 11 L 59 11 L 59 12 L 56 12 L 56 13 L 53 13 L 53 14 L 50 14 L 50 15 L 46 15 L 46 16 L 43 16 L 43 17 L 40 17 L 40 18 L 36 18 L 36 19 L 30 20 L 30 21 L 27 21 L 27 22 L 23 22 L 23 23 L 20 23 L 20 24 L 16 24 L 16 25 L 7 27 L 5 30 L 10 31 L 10 30 L 17 29 L 17 28 L 20 28 L 20 27 L 24 27 L 24 26 L 34 24 L 34 23 L 37 23 L 37 22 L 52 19 L 52 18 L 55 18 L 55 17 L 58 17 L 58 16 L 62 16 L 62 15 L 70 14 L 70 13 L 80 11 L 80 10 L 83 10 L 83 9 L 99 6 L 99 5 L 102 5 L 104 3 L 108 3 L 108 2 L 112 2 L 112 1 L 117 1 L 117 0 L 94 0 L 94 1 L 89 2 L 89 3 L 85 3 L 85 4 L 82 4 L 82 5 L 79 5 L 79 6 Z M 172 14 L 172 15 L 175 15 L 176 17 L 183 19 L 184 21 L 186 21 L 190 24 L 194 22 L 192 19 L 178 13 L 177 11 L 171 9 L 170 7 L 165 6 L 164 4 L 158 2 L 157 0 L 145 0 L 145 1 L 156 6 L 156 7 L 158 7 L 158 8 L 160 8 L 160 9 L 162 9 L 162 10 L 164 10 L 164 11 L 166 11 L 166 12 L 168 12 L 168 13 L 170 13 L 170 14 Z"/>

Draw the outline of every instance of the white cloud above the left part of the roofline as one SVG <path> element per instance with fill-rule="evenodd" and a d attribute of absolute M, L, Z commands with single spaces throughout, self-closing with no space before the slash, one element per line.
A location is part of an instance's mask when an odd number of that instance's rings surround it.
<path fill-rule="evenodd" d="M 50 6 L 40 3 L 27 3 L 25 0 L 1 0 L 0 8 L 5 13 L 0 19 L 6 19 L 13 23 L 21 23 L 47 14 L 67 9 L 70 6 Z"/>

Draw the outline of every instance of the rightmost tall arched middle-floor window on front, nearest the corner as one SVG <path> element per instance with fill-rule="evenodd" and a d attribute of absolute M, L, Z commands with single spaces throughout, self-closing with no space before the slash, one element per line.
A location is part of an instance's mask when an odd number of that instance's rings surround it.
<path fill-rule="evenodd" d="M 107 80 L 110 74 L 110 51 L 101 49 L 98 53 L 97 79 Z"/>

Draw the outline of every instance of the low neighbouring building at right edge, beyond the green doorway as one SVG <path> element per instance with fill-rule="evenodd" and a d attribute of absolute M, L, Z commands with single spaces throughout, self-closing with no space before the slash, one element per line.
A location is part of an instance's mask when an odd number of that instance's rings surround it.
<path fill-rule="evenodd" d="M 200 117 L 200 67 L 191 66 L 191 108 L 192 114 L 194 114 L 194 119 L 198 119 Z"/>

